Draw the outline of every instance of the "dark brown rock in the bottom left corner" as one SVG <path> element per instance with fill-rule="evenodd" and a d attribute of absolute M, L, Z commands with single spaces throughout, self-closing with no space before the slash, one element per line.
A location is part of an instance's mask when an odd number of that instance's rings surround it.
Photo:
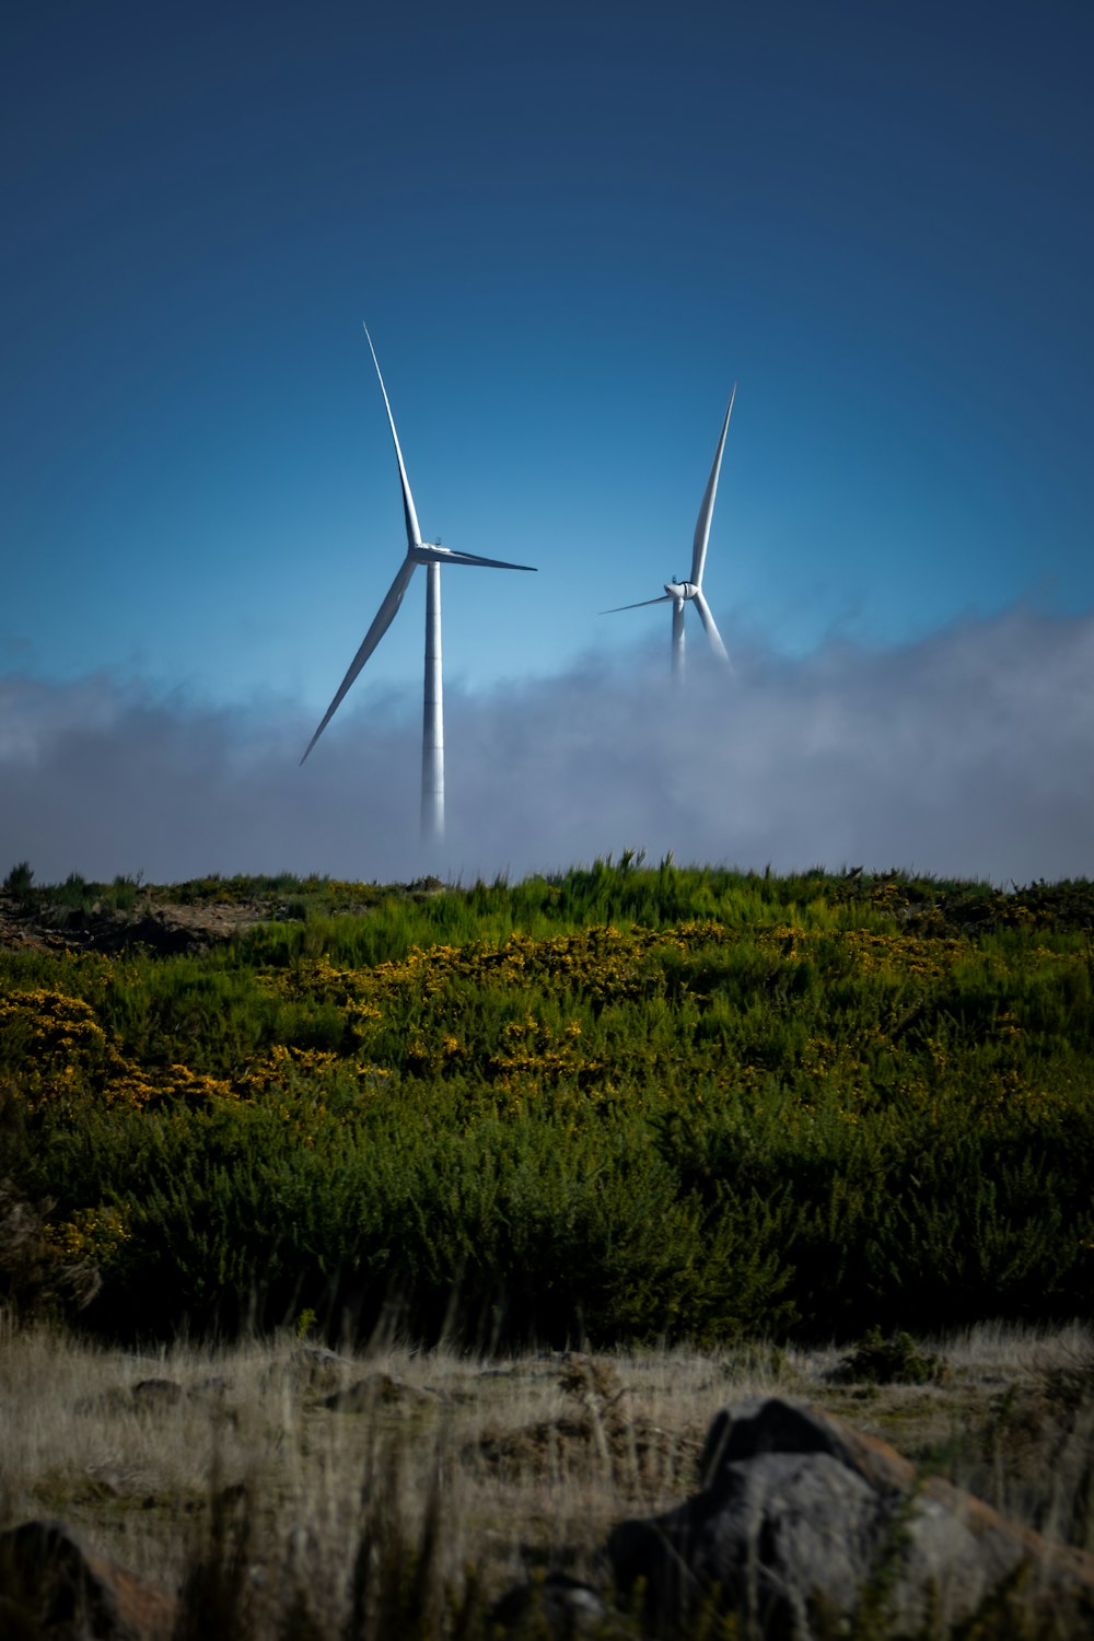
<path fill-rule="evenodd" d="M 59 1521 L 0 1533 L 0 1620 L 18 1641 L 169 1641 L 177 1610 Z"/>

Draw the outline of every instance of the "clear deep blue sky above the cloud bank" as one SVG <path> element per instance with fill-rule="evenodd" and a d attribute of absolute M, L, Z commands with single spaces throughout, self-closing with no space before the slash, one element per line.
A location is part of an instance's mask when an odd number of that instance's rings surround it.
<path fill-rule="evenodd" d="M 10 10 L 0 678 L 313 724 L 403 551 L 362 320 L 423 532 L 540 566 L 446 574 L 469 699 L 668 666 L 597 612 L 687 569 L 733 381 L 732 650 L 1086 617 L 1092 46 L 1087 0 Z M 417 714 L 422 619 L 315 757 Z"/>

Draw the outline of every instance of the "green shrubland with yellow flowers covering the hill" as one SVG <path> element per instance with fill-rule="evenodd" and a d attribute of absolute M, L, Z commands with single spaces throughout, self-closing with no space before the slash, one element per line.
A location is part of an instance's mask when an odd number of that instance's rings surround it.
<path fill-rule="evenodd" d="M 1089 1314 L 1087 883 L 7 891 L 21 1313 L 479 1351 Z M 167 950 L 167 906 L 249 911 Z"/>

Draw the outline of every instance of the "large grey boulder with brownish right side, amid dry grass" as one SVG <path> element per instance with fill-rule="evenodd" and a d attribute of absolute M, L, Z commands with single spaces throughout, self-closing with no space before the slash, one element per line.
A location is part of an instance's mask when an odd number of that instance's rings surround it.
<path fill-rule="evenodd" d="M 609 1539 L 617 1584 L 645 1580 L 661 1633 L 715 1602 L 794 1641 L 866 1611 L 887 1636 L 910 1636 L 969 1620 L 1007 1580 L 1012 1600 L 1051 1603 L 1064 1625 L 1084 1603 L 1094 1610 L 1094 1557 L 940 1477 L 919 1482 L 896 1449 L 818 1408 L 722 1411 L 702 1479 L 677 1510 L 625 1521 Z"/>

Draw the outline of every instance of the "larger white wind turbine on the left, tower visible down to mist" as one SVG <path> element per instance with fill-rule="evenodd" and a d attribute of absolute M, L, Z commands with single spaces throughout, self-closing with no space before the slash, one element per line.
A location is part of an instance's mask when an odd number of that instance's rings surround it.
<path fill-rule="evenodd" d="M 535 569 L 535 565 L 507 565 L 500 558 L 477 558 L 474 553 L 454 553 L 451 546 L 441 546 L 440 542 L 423 542 L 422 530 L 418 528 L 418 515 L 413 507 L 413 496 L 410 494 L 410 481 L 407 478 L 407 466 L 402 459 L 402 450 L 399 446 L 399 433 L 395 432 L 395 417 L 392 415 L 390 400 L 387 397 L 387 389 L 384 387 L 384 377 L 381 374 L 381 361 L 376 358 L 376 348 L 372 346 L 372 338 L 369 336 L 369 327 L 364 327 L 364 335 L 369 341 L 369 351 L 372 353 L 372 364 L 376 366 L 376 374 L 381 381 L 381 392 L 384 394 L 384 404 L 387 407 L 387 420 L 392 428 L 392 440 L 395 441 L 395 459 L 399 463 L 399 478 L 402 482 L 402 505 L 403 517 L 407 520 L 407 556 L 399 566 L 399 574 L 387 589 L 387 597 L 381 604 L 372 625 L 361 640 L 361 648 L 349 663 L 349 671 L 343 678 L 335 699 L 328 706 L 320 727 L 308 742 L 307 752 L 300 763 L 305 761 L 308 752 L 320 738 L 335 712 L 341 706 L 341 701 L 353 684 L 354 678 L 367 661 L 367 658 L 376 650 L 377 643 L 394 622 L 399 606 L 403 601 L 403 594 L 410 586 L 410 578 L 413 576 L 418 565 L 425 565 L 426 583 L 425 583 L 425 702 L 422 712 L 422 839 L 425 842 L 440 842 L 444 837 L 444 709 L 443 709 L 443 693 L 441 693 L 441 565 L 479 565 L 487 569 Z"/>

